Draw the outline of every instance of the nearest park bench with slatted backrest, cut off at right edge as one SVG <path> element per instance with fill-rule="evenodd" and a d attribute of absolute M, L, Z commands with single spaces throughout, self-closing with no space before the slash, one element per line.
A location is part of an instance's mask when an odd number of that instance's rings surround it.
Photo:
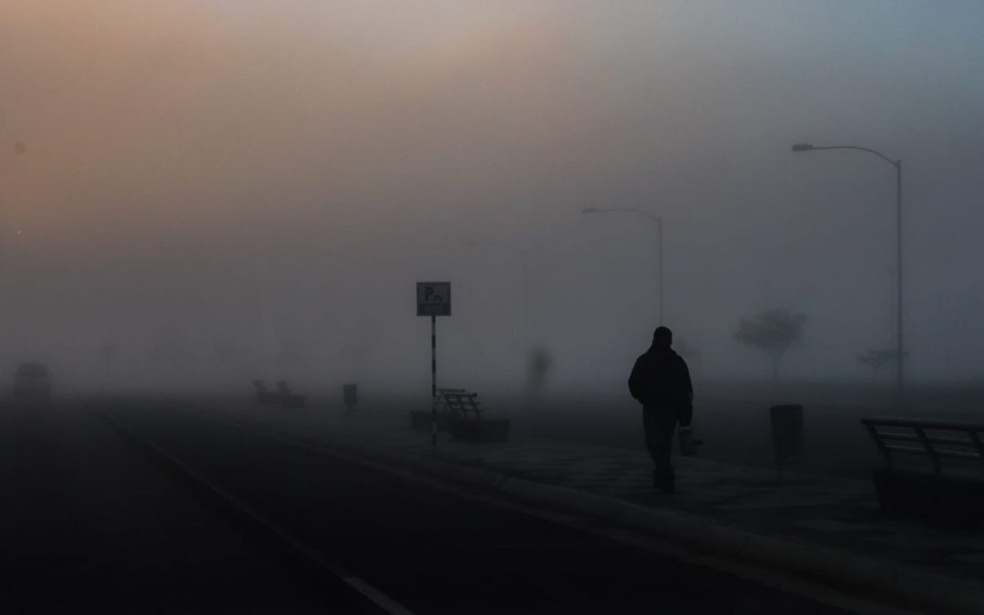
<path fill-rule="evenodd" d="M 960 527 L 984 521 L 984 424 L 918 418 L 861 423 L 885 460 L 872 472 L 883 513 Z"/>

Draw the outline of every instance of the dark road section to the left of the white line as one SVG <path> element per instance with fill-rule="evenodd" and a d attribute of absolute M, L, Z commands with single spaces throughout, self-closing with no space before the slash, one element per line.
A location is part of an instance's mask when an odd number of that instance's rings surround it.
<path fill-rule="evenodd" d="M 305 584 L 76 406 L 0 405 L 0 494 L 3 613 L 315 613 L 360 604 L 340 584 Z"/>

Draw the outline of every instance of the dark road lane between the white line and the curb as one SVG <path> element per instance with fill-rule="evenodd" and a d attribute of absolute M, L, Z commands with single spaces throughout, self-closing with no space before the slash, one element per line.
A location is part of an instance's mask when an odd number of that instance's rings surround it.
<path fill-rule="evenodd" d="M 413 612 L 840 612 L 184 411 L 111 412 Z"/>

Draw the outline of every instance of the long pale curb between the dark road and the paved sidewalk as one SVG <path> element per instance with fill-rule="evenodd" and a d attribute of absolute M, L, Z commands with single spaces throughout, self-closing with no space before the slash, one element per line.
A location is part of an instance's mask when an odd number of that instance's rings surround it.
<path fill-rule="evenodd" d="M 285 434 L 284 434 L 285 435 Z M 706 517 L 648 508 L 571 487 L 537 482 L 454 459 L 387 454 L 366 447 L 324 442 L 347 455 L 391 470 L 415 469 L 452 482 L 480 487 L 539 506 L 586 514 L 638 528 L 707 555 L 792 573 L 856 594 L 876 593 L 932 612 L 977 614 L 984 585 L 964 582 L 915 566 L 757 533 Z M 413 467 L 407 467 L 407 464 Z"/>

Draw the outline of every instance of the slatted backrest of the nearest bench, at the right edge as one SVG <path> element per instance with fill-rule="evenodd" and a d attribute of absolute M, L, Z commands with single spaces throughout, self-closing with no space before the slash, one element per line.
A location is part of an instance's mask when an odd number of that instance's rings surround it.
<path fill-rule="evenodd" d="M 942 472 L 941 460 L 984 462 L 984 425 L 918 418 L 862 418 L 885 462 L 892 467 L 892 455 L 925 456 L 933 471 Z"/>

